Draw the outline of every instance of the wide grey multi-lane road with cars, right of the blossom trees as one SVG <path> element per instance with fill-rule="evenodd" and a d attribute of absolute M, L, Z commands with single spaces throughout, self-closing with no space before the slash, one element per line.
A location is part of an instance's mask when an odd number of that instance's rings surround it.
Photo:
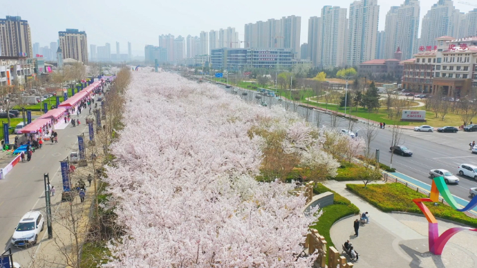
<path fill-rule="evenodd" d="M 232 88 L 225 88 L 227 92 L 232 93 Z M 243 91 L 247 91 L 247 95 L 242 95 Z M 261 99 L 256 99 L 256 91 L 238 90 L 236 93 L 242 99 L 248 102 L 261 104 L 266 102 L 268 107 L 273 105 L 281 105 L 284 108 L 288 107 L 289 111 L 296 111 L 303 117 L 308 116 L 308 122 L 317 124 L 319 117 L 319 126 L 328 126 L 331 124 L 331 116 L 326 113 L 312 111 L 310 108 L 302 106 L 295 106 L 285 101 L 278 101 L 274 97 L 261 96 Z M 319 114 L 319 116 L 318 116 Z M 335 117 L 333 124 L 337 128 L 348 129 L 349 121 L 342 117 Z M 367 124 L 363 122 L 355 122 L 351 126 L 351 130 L 359 135 L 366 133 Z M 391 129 L 380 129 L 377 127 L 377 135 L 371 142 L 371 150 L 380 150 L 380 162 L 391 166 L 391 147 L 392 133 Z M 392 166 L 396 171 L 408 175 L 421 182 L 431 184 L 429 171 L 431 169 L 447 169 L 456 174 L 460 178 L 459 184 L 449 184 L 449 190 L 453 195 L 456 195 L 465 200 L 470 200 L 469 189 L 476 187 L 477 182 L 473 178 L 462 177 L 458 175 L 459 164 L 475 164 L 477 165 L 477 154 L 472 154 L 469 150 L 469 142 L 477 140 L 477 133 L 467 133 L 459 131 L 458 133 L 422 133 L 412 130 L 402 130 L 400 137 L 400 144 L 405 145 L 411 151 L 413 156 L 402 157 L 401 155 L 393 155 Z"/>

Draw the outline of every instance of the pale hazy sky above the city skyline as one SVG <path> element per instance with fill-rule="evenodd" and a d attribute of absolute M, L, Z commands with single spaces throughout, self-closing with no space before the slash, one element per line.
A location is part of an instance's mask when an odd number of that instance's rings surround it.
<path fill-rule="evenodd" d="M 421 0 L 422 18 L 438 0 Z M 477 8 L 477 1 L 468 6 L 454 1 L 460 12 Z M 127 53 L 127 42 L 131 41 L 133 54 L 143 55 L 144 45 L 158 46 L 158 35 L 171 33 L 199 35 L 200 31 L 235 27 L 239 39 L 243 40 L 245 23 L 279 19 L 289 15 L 301 17 L 301 43 L 308 39 L 308 18 L 319 16 L 326 5 L 341 6 L 349 10 L 351 0 L 17 0 L 1 1 L 0 17 L 21 16 L 30 23 L 33 43 L 49 45 L 58 39 L 58 31 L 66 28 L 85 30 L 88 45 L 111 44 L 115 52 L 115 42 L 120 42 L 120 52 Z M 399 6 L 404 0 L 377 0 L 380 5 L 379 30 L 384 30 L 386 13 L 393 5 Z"/>

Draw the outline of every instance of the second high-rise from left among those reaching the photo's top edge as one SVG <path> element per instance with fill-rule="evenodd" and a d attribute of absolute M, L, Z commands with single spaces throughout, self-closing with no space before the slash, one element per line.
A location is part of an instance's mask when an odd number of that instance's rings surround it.
<path fill-rule="evenodd" d="M 386 15 L 383 59 L 393 59 L 397 48 L 404 59 L 411 59 L 418 51 L 419 14 L 418 0 L 405 0 L 401 6 L 391 7 Z"/>

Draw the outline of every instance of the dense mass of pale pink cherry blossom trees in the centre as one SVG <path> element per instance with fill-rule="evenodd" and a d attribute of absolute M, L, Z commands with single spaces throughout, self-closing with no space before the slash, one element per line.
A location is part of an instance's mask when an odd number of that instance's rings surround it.
<path fill-rule="evenodd" d="M 126 234 L 106 267 L 311 266 L 301 243 L 319 213 L 303 214 L 294 185 L 255 178 L 277 152 L 335 173 L 330 131 L 169 73 L 133 72 L 126 99 L 105 179 Z"/>

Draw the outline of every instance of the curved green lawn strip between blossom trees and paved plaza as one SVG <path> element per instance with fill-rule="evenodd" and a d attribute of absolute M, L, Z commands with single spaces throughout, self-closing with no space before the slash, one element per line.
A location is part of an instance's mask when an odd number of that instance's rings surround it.
<path fill-rule="evenodd" d="M 313 188 L 313 193 L 315 194 L 324 193 L 327 191 L 335 194 L 333 198 L 335 204 L 321 209 L 323 214 L 321 214 L 321 216 L 318 218 L 318 221 L 310 226 L 310 228 L 317 229 L 318 233 L 321 236 L 324 236 L 326 242 L 328 242 L 328 247 L 335 247 L 333 241 L 331 241 L 330 238 L 331 226 L 339 219 L 342 219 L 346 216 L 359 214 L 359 209 L 354 204 L 351 204 L 350 200 L 344 198 L 335 191 L 331 191 L 321 183 L 317 184 L 317 186 Z"/>

